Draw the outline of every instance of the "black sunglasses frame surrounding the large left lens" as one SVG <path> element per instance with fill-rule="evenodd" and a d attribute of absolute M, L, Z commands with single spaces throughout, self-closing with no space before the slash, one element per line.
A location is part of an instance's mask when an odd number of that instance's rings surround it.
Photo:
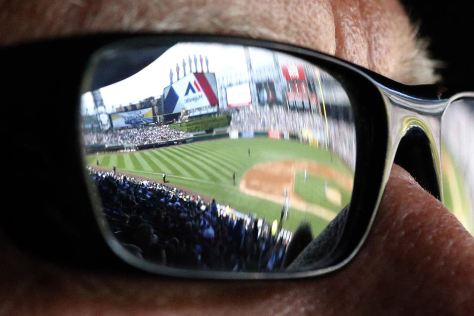
<path fill-rule="evenodd" d="M 438 104 L 454 95 L 438 86 L 406 86 L 333 56 L 309 49 L 248 38 L 214 35 L 104 34 L 63 38 L 1 49 L 6 117 L 23 114 L 27 122 L 13 131 L 8 150 L 15 155 L 7 175 L 13 190 L 8 198 L 15 208 L 3 211 L 3 231 L 19 246 L 42 258 L 79 268 L 107 271 L 129 270 L 103 237 L 84 176 L 79 131 L 79 96 L 90 58 L 104 46 L 171 46 L 177 42 L 219 42 L 268 48 L 302 58 L 330 72 L 346 89 L 356 125 L 356 173 L 350 210 L 333 250 L 313 266 L 314 270 L 295 273 L 231 273 L 188 271 L 160 267 L 153 273 L 208 279 L 301 278 L 335 271 L 356 254 L 368 234 L 385 187 L 390 158 L 389 114 L 380 86 L 396 94 L 410 96 L 421 104 Z M 377 82 L 379 86 L 374 84 Z M 19 87 L 22 91 L 19 92 Z M 46 109 L 41 109 L 47 105 Z M 71 106 L 75 105 L 75 106 Z M 18 110 L 19 108 L 19 110 Z M 39 108 L 39 110 L 35 110 Z M 11 112 L 9 112 L 11 111 Z M 426 185 L 441 198 L 439 170 L 430 155 L 430 143 L 416 126 L 406 131 L 421 144 L 426 168 Z M 404 142 L 411 148 L 409 141 Z M 395 162 L 412 161 L 407 151 Z M 426 155 L 428 153 L 428 156 Z M 36 160 L 33 160 L 34 157 Z M 398 157 L 398 158 L 397 158 Z M 431 164 L 430 164 L 431 162 Z M 29 166 L 25 169 L 25 166 Z M 389 167 L 388 167 L 389 166 Z M 416 165 L 414 165 L 416 168 Z M 24 192 L 24 188 L 27 192 Z M 135 270 L 136 271 L 136 270 Z"/>

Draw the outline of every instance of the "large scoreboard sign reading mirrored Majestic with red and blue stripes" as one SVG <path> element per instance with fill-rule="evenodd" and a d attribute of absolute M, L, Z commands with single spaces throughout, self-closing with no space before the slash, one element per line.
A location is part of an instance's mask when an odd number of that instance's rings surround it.
<path fill-rule="evenodd" d="M 210 72 L 190 73 L 164 88 L 163 97 L 164 114 L 218 105 L 216 76 Z"/>

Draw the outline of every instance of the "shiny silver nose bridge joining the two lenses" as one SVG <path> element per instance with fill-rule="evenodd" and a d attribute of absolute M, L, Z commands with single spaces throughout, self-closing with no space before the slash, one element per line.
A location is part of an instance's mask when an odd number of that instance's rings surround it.
<path fill-rule="evenodd" d="M 388 177 L 395 162 L 443 201 L 441 117 L 447 100 L 418 99 L 383 89 L 389 120 Z"/>

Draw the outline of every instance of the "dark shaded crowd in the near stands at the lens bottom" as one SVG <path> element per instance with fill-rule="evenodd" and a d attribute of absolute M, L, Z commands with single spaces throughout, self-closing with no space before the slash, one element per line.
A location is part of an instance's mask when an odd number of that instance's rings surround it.
<path fill-rule="evenodd" d="M 104 220 L 135 256 L 170 267 L 275 271 L 289 240 L 229 207 L 163 184 L 94 171 Z"/>

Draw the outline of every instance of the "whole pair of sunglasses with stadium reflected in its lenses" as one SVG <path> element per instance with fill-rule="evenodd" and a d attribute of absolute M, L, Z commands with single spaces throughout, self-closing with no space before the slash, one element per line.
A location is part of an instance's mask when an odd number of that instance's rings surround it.
<path fill-rule="evenodd" d="M 175 277 L 323 275 L 362 246 L 394 162 L 472 230 L 472 92 L 229 36 L 1 54 L 4 117 L 22 122 L 5 134 L 15 207 L 1 225 L 37 256 Z"/>

